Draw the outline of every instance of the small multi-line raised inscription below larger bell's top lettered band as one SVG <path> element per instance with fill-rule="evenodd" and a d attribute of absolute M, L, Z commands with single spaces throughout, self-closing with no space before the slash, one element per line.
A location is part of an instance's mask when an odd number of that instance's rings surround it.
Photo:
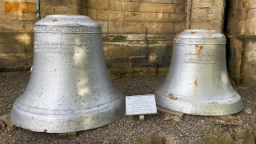
<path fill-rule="evenodd" d="M 90 48 L 90 42 L 34 42 L 35 53 L 88 53 L 90 51 Z"/>

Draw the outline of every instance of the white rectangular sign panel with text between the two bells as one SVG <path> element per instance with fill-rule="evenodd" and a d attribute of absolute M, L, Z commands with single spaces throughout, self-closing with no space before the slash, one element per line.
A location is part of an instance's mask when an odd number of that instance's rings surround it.
<path fill-rule="evenodd" d="M 156 113 L 154 94 L 126 96 L 126 115 Z"/>

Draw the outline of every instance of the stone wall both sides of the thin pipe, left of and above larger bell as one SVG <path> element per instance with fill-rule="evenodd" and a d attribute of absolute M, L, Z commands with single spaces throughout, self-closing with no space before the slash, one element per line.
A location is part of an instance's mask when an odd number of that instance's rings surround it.
<path fill-rule="evenodd" d="M 35 0 L 0 0 L 0 71 L 29 70 L 33 62 Z M 41 17 L 86 14 L 83 0 L 40 0 Z"/>

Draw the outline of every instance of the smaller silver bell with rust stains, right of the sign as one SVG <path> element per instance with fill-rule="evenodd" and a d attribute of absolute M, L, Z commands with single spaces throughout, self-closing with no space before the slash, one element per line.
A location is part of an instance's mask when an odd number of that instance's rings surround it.
<path fill-rule="evenodd" d="M 194 115 L 243 109 L 226 70 L 226 38 L 214 30 L 184 30 L 174 38 L 170 69 L 155 91 L 158 106 Z"/>

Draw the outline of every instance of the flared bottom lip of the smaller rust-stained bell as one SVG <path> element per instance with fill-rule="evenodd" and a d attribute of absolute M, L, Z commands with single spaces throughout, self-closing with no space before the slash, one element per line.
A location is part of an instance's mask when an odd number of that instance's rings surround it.
<path fill-rule="evenodd" d="M 174 96 L 177 96 L 173 94 Z M 168 110 L 178 111 L 184 114 L 202 115 L 202 116 L 217 116 L 227 114 L 237 114 L 244 109 L 241 96 L 236 92 L 234 96 L 229 98 L 219 98 L 222 103 L 216 102 L 190 102 L 189 99 L 170 99 L 166 96 L 155 94 L 156 103 L 158 106 Z M 218 98 L 216 98 L 218 99 Z M 224 101 L 228 99 L 227 101 Z M 233 99 L 233 101 L 230 101 Z"/>

